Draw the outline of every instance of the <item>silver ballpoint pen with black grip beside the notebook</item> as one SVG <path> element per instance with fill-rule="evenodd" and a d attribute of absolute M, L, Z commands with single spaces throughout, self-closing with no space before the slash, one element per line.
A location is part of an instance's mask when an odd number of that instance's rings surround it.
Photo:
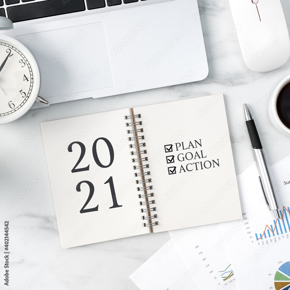
<path fill-rule="evenodd" d="M 255 155 L 256 164 L 259 171 L 259 180 L 262 187 L 262 192 L 264 194 L 267 206 L 270 211 L 273 211 L 276 219 L 280 218 L 279 214 L 279 204 L 277 202 L 277 197 L 275 194 L 274 186 L 271 180 L 269 168 L 264 155 L 263 147 L 260 141 L 260 137 L 257 132 L 255 122 L 252 118 L 250 110 L 247 104 L 244 104 L 246 125 L 251 139 L 251 144 L 253 152 Z"/>

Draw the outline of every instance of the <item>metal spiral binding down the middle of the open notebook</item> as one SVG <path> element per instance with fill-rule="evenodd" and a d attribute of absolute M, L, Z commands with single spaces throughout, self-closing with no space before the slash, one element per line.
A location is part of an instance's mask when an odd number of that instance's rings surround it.
<path fill-rule="evenodd" d="M 136 184 L 140 184 L 137 187 L 137 191 L 143 191 L 143 194 L 138 194 L 138 198 L 143 199 L 139 202 L 139 205 L 145 206 L 145 208 L 141 209 L 141 213 L 145 213 L 146 215 L 142 215 L 142 220 L 146 221 L 143 223 L 143 226 L 149 227 L 150 231 L 153 232 L 153 226 L 158 225 L 158 222 L 153 222 L 153 219 L 157 218 L 157 214 L 151 214 L 151 212 L 156 211 L 156 207 L 150 207 L 151 204 L 155 204 L 155 200 L 151 200 L 151 197 L 154 196 L 153 192 L 149 192 L 153 190 L 152 185 L 147 185 L 147 183 L 152 182 L 151 178 L 146 178 L 146 175 L 150 175 L 150 171 L 144 171 L 144 169 L 149 168 L 149 164 L 143 164 L 143 162 L 148 161 L 148 157 L 143 157 L 143 154 L 147 154 L 147 150 L 140 150 L 141 147 L 146 147 L 146 143 L 142 140 L 145 139 L 144 135 L 138 136 L 138 133 L 143 133 L 142 121 L 136 120 L 141 118 L 141 114 L 134 114 L 134 110 L 131 108 L 131 115 L 125 116 L 125 119 L 130 119 L 130 122 L 126 123 L 126 127 L 131 127 L 130 130 L 127 130 L 128 134 L 132 134 L 133 136 L 128 137 L 129 141 L 133 141 L 133 144 L 130 144 L 129 147 L 135 151 L 131 151 L 131 155 L 137 155 L 136 158 L 132 159 L 132 162 L 136 162 L 138 165 L 134 165 L 133 169 L 138 170 L 138 172 L 134 173 L 135 177 L 139 177 L 139 180 L 136 180 Z M 139 143 L 139 140 L 140 143 Z"/>

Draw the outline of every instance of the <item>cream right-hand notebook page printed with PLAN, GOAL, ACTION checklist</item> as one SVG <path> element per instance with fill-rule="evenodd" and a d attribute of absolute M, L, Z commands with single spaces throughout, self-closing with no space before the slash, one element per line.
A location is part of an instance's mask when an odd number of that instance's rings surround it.
<path fill-rule="evenodd" d="M 134 112 L 143 120 L 159 222 L 154 232 L 242 218 L 222 95 Z"/>

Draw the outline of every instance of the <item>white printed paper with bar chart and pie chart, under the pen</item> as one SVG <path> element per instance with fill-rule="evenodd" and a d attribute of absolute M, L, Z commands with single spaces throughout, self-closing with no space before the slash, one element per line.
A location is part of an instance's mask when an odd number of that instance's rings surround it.
<path fill-rule="evenodd" d="M 290 289 L 290 156 L 269 167 L 283 219 L 269 211 L 253 163 L 238 176 L 243 220 L 222 223 L 239 289 Z"/>

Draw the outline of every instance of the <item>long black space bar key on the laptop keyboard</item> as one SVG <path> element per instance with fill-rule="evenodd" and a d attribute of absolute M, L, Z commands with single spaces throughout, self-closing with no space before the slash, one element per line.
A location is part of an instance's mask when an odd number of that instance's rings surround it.
<path fill-rule="evenodd" d="M 84 11 L 84 0 L 46 0 L 7 8 L 8 18 L 12 22 Z"/>

